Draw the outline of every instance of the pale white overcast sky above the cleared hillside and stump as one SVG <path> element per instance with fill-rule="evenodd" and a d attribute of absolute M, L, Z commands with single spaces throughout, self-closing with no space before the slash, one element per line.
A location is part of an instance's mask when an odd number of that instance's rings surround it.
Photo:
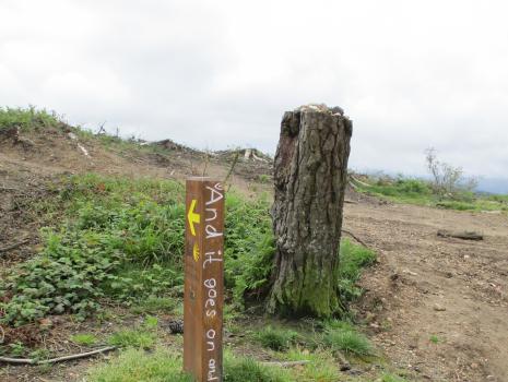
<path fill-rule="evenodd" d="M 424 150 L 508 178 L 505 1 L 0 0 L 0 105 L 274 153 L 284 110 L 341 106 L 351 167 Z"/>

